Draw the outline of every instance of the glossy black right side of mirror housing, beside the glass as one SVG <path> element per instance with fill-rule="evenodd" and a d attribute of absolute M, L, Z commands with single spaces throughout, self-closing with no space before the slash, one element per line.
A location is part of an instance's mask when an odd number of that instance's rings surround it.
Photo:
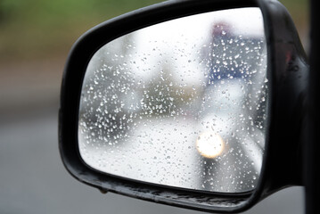
<path fill-rule="evenodd" d="M 272 96 L 264 193 L 302 185 L 303 127 L 307 116 L 308 59 L 289 12 L 276 0 L 260 1 L 268 45 Z"/>

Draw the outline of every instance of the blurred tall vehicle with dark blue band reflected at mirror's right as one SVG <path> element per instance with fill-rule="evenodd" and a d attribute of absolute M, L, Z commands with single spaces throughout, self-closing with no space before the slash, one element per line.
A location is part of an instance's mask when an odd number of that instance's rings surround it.
<path fill-rule="evenodd" d="M 211 39 L 206 53 L 209 71 L 200 119 L 201 124 L 210 125 L 203 133 L 209 131 L 212 136 L 222 136 L 221 142 L 226 141 L 226 148 L 214 157 L 201 153 L 204 164 L 201 184 L 205 189 L 210 189 L 210 181 L 215 177 L 223 181 L 221 186 L 248 184 L 250 182 L 243 180 L 258 177 L 267 100 L 264 38 L 237 35 L 230 24 L 220 21 L 213 26 Z M 242 158 L 233 151 L 241 152 Z M 234 165 L 239 161 L 248 162 L 245 165 L 250 173 L 242 176 L 238 173 L 241 170 L 227 169 L 220 159 Z"/>

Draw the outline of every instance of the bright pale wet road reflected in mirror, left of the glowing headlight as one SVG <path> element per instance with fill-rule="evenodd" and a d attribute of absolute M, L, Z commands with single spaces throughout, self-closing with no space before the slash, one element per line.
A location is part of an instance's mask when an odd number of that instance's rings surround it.
<path fill-rule="evenodd" d="M 91 152 L 95 157 L 103 157 L 103 164 L 97 167 L 122 177 L 195 188 L 199 176 L 194 175 L 197 174 L 194 121 L 144 119 L 137 124 L 119 145 L 113 142 L 103 149 L 86 148 L 90 149 L 90 157 Z M 91 164 L 96 166 L 96 161 Z"/>

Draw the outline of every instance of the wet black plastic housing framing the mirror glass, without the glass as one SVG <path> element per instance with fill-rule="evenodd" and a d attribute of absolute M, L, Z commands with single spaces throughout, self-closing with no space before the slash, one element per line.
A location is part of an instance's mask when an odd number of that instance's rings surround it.
<path fill-rule="evenodd" d="M 78 105 L 86 67 L 94 53 L 111 40 L 163 21 L 201 12 L 259 7 L 267 37 L 267 77 L 270 90 L 267 140 L 261 177 L 248 193 L 209 193 L 152 185 L 103 174 L 91 169 L 78 152 Z M 286 9 L 277 1 L 201 0 L 168 1 L 105 21 L 90 29 L 73 45 L 66 64 L 59 114 L 59 146 L 70 175 L 102 192 L 160 202 L 177 207 L 240 212 L 286 186 L 302 185 L 302 126 L 308 62 Z"/>

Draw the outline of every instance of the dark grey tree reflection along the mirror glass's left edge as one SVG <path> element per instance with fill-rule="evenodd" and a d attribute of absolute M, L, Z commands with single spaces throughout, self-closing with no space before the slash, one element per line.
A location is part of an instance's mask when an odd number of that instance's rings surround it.
<path fill-rule="evenodd" d="M 86 70 L 80 117 L 100 140 L 118 142 L 127 136 L 132 115 L 124 111 L 123 96 L 130 93 L 132 74 L 127 70 L 126 55 L 130 35 L 120 37 L 94 54 Z M 94 137 L 91 139 L 94 141 Z"/>

